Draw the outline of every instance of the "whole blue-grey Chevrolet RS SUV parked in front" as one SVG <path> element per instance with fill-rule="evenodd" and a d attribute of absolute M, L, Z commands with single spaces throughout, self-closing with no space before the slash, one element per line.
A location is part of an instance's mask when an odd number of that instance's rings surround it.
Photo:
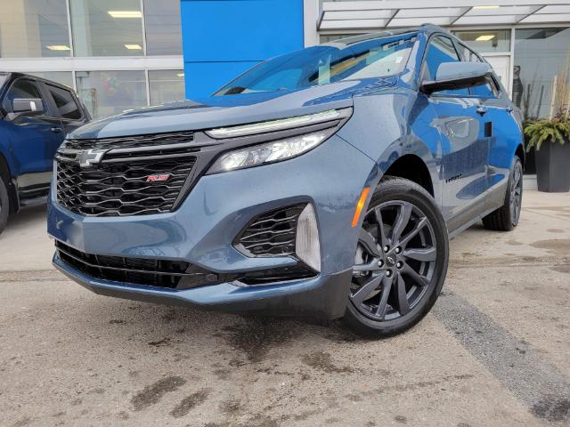
<path fill-rule="evenodd" d="M 517 226 L 523 157 L 505 89 L 460 40 L 346 38 L 71 133 L 53 263 L 97 294 L 397 334 L 436 302 L 449 235 Z"/>

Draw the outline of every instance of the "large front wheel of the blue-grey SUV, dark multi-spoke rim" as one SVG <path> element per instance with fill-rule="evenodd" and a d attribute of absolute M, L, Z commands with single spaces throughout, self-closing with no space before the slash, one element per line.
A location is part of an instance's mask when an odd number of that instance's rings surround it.
<path fill-rule="evenodd" d="M 362 221 L 346 325 L 369 338 L 410 329 L 436 303 L 448 261 L 447 228 L 433 197 L 415 182 L 384 177 Z"/>

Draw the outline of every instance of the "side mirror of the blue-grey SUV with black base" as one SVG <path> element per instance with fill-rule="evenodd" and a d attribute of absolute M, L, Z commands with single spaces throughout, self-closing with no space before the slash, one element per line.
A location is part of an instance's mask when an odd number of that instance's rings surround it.
<path fill-rule="evenodd" d="M 444 62 L 439 65 L 436 80 L 422 82 L 423 93 L 434 93 L 454 89 L 485 85 L 493 76 L 493 68 L 486 62 Z"/>

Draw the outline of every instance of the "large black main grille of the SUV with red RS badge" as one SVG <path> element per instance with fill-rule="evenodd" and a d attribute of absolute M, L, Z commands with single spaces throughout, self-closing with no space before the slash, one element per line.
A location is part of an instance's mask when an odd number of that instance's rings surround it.
<path fill-rule="evenodd" d="M 57 200 L 85 216 L 170 212 L 196 162 L 191 133 L 66 141 L 56 155 Z M 106 149 L 98 164 L 82 167 L 81 149 Z M 167 175 L 167 181 L 147 181 Z"/>

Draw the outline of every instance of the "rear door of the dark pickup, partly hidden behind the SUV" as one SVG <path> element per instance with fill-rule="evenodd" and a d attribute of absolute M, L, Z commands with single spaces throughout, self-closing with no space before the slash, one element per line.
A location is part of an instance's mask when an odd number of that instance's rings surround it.
<path fill-rule="evenodd" d="M 81 125 L 85 125 L 89 117 L 86 117 L 85 110 L 81 107 L 77 96 L 70 88 L 52 85 L 47 82 L 44 82 L 43 85 L 49 93 L 53 101 L 53 109 L 55 109 L 56 114 L 61 119 L 61 125 L 63 125 L 61 143 L 66 134 L 75 131 Z M 59 144 L 57 148 L 59 148 Z"/>

